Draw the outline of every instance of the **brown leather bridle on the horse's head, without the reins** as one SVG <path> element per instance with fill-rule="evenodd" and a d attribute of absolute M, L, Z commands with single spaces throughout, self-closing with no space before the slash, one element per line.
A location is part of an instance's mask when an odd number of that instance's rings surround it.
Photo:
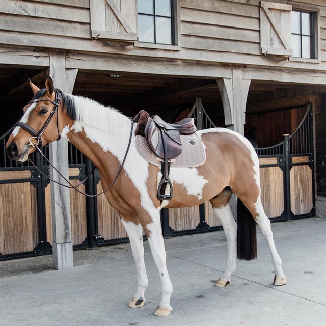
<path fill-rule="evenodd" d="M 40 131 L 38 131 L 38 132 L 35 131 L 31 126 L 29 126 L 28 124 L 21 122 L 21 121 L 18 121 L 15 125 L 15 127 L 21 127 L 32 135 L 32 137 L 29 139 L 29 143 L 31 144 L 32 147 L 35 147 L 35 146 L 42 147 L 42 134 L 43 134 L 44 130 L 46 129 L 46 127 L 48 126 L 48 124 L 50 123 L 50 121 L 52 120 L 52 118 L 56 112 L 57 112 L 57 129 L 58 129 L 57 141 L 59 141 L 59 139 L 61 138 L 61 133 L 59 131 L 59 120 L 58 120 L 58 111 L 59 111 L 59 105 L 60 105 L 60 101 L 61 101 L 61 91 L 55 90 L 55 94 L 56 94 L 56 98 L 54 101 L 52 101 L 51 99 L 45 98 L 42 100 L 30 101 L 27 103 L 27 104 L 32 104 L 32 103 L 37 103 L 37 102 L 42 102 L 42 101 L 49 101 L 54 104 L 50 115 L 44 122 Z M 33 144 L 32 139 L 36 139 L 37 143 Z"/>

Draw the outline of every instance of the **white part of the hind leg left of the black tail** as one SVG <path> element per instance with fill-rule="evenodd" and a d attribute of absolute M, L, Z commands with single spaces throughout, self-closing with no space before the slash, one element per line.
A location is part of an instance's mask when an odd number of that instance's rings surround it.
<path fill-rule="evenodd" d="M 233 218 L 230 205 L 214 208 L 216 217 L 221 221 L 225 236 L 228 241 L 228 256 L 223 279 L 230 282 L 230 276 L 235 271 L 236 265 L 236 231 L 237 224 Z"/>

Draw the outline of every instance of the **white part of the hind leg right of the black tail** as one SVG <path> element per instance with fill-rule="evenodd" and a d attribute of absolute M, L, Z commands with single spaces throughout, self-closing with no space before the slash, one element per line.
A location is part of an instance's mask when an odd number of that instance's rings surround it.
<path fill-rule="evenodd" d="M 274 239 L 273 239 L 273 232 L 270 228 L 270 221 L 267 218 L 263 206 L 261 204 L 260 196 L 257 199 L 255 204 L 256 213 L 258 214 L 256 218 L 256 222 L 259 225 L 262 234 L 267 240 L 269 251 L 271 254 L 271 259 L 273 260 L 273 265 L 275 267 L 275 276 L 276 277 L 285 277 L 283 270 L 282 270 L 282 260 L 276 250 Z"/>

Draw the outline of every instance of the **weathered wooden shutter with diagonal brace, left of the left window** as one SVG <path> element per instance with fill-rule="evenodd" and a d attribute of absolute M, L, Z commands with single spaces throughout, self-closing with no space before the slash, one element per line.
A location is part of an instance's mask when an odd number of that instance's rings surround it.
<path fill-rule="evenodd" d="M 137 0 L 90 0 L 92 37 L 137 41 Z"/>

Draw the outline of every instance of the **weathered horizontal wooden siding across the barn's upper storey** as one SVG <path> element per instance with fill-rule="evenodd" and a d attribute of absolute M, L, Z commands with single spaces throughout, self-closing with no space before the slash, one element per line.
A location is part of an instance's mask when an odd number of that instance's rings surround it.
<path fill-rule="evenodd" d="M 295 4 L 304 5 L 301 0 L 291 3 L 293 7 Z M 95 40 L 91 37 L 89 1 L 86 0 L 4 0 L 0 3 L 0 43 L 139 57 L 325 70 L 326 3 L 318 0 L 310 0 L 309 3 L 319 6 L 316 9 L 320 11 L 321 64 L 294 62 L 286 58 L 275 60 L 260 54 L 258 0 L 180 0 L 181 51 L 135 47 L 132 42 L 125 41 Z"/>

